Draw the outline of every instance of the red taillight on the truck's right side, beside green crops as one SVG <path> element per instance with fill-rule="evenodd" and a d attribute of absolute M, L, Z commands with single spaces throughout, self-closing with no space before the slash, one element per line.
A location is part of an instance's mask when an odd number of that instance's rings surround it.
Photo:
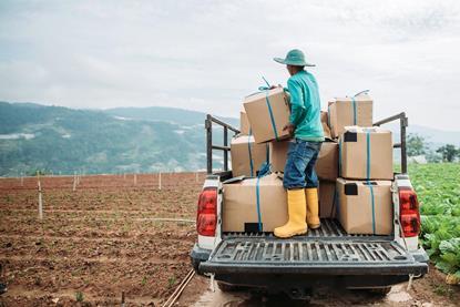
<path fill-rule="evenodd" d="M 405 237 L 420 233 L 420 212 L 416 192 L 410 187 L 399 188 L 399 216 Z"/>

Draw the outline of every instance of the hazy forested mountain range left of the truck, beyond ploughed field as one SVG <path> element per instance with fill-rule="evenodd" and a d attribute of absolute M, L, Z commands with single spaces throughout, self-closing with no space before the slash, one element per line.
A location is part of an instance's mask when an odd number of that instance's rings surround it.
<path fill-rule="evenodd" d="M 205 168 L 205 114 L 159 108 L 156 116 L 155 109 L 98 111 L 0 102 L 0 176 L 37 170 L 88 174 Z M 216 130 L 213 139 L 222 140 L 222 132 Z M 216 155 L 218 167 L 222 160 Z"/>

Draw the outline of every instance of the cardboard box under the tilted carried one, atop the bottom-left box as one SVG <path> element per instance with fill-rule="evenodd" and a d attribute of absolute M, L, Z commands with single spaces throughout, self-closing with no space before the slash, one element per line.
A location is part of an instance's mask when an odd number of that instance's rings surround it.
<path fill-rule="evenodd" d="M 256 144 L 254 136 L 238 135 L 232 139 L 231 157 L 234 177 L 254 177 L 268 157 L 268 144 Z"/>

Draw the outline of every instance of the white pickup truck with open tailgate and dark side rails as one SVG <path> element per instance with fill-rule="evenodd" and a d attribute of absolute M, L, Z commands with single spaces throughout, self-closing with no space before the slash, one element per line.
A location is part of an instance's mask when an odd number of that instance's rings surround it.
<path fill-rule="evenodd" d="M 317 286 L 370 289 L 386 295 L 392 285 L 428 273 L 428 256 L 419 245 L 420 215 L 417 195 L 407 174 L 405 113 L 376 122 L 399 121 L 401 172 L 392 183 L 393 232 L 389 236 L 349 235 L 336 219 L 321 219 L 308 234 L 280 239 L 273 233 L 222 231 L 223 182 L 228 170 L 228 131 L 238 130 L 207 115 L 207 177 L 197 204 L 197 243 L 191 252 L 197 274 L 212 276 L 222 290 L 255 287 L 267 293 L 307 297 Z M 213 144 L 213 124 L 223 127 L 223 145 Z M 214 137 L 216 139 L 216 137 Z M 223 151 L 224 170 L 213 173 L 213 151 Z"/>

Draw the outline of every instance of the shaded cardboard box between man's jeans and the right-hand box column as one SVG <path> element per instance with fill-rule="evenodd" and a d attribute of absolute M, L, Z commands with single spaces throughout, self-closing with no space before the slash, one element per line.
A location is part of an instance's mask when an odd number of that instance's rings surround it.
<path fill-rule="evenodd" d="M 323 142 L 315 171 L 319 178 L 335 182 L 338 177 L 338 143 Z"/>

